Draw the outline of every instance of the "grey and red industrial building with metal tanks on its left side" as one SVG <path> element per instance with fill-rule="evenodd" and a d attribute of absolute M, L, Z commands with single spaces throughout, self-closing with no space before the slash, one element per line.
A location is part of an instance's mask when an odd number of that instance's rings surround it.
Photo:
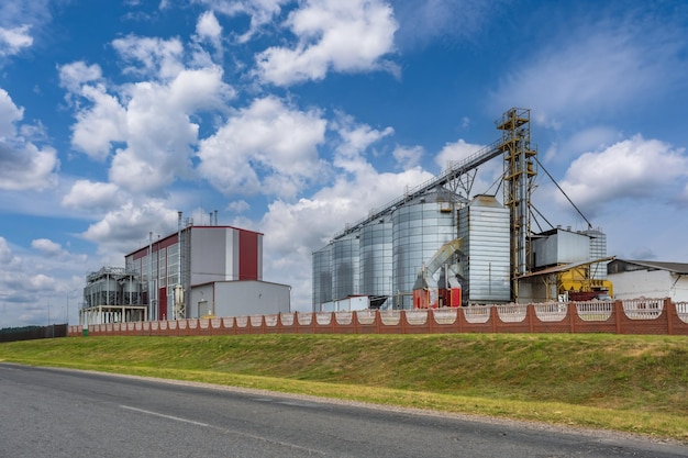
<path fill-rule="evenodd" d="M 87 276 L 81 324 L 285 313 L 291 289 L 263 281 L 263 234 L 182 222 Z M 211 217 L 212 222 L 212 217 Z"/>

